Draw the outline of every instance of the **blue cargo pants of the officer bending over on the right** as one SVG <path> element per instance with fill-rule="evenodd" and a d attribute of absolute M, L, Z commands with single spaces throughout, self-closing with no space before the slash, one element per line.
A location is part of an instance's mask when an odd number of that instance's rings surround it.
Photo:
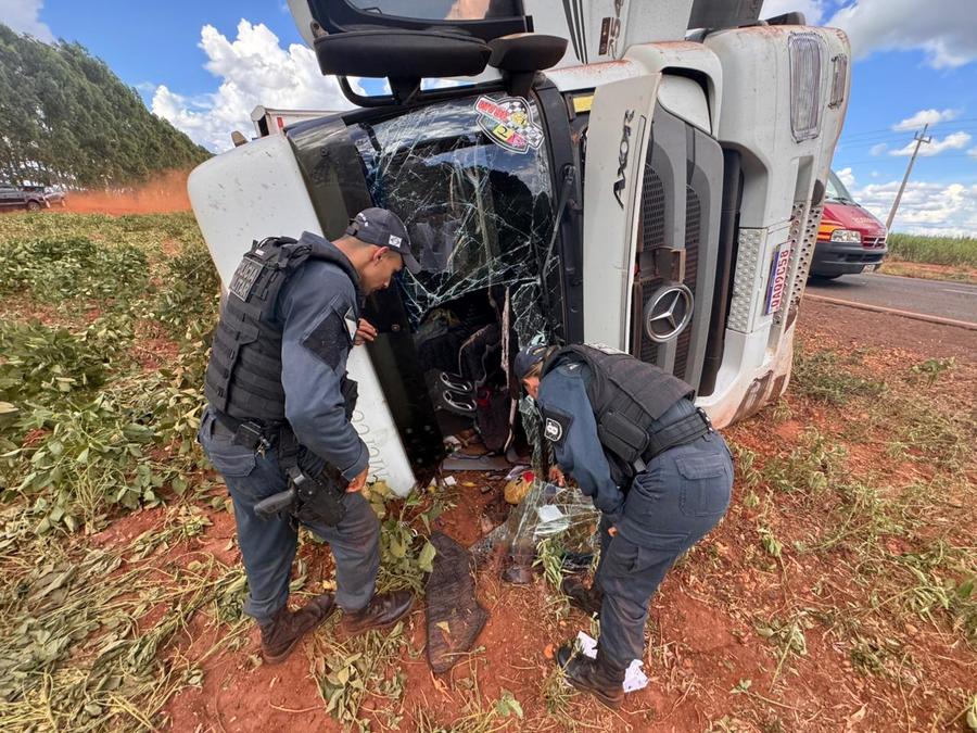
<path fill-rule="evenodd" d="M 613 538 L 601 517 L 594 577 L 604 592 L 598 649 L 611 667 L 643 658 L 651 596 L 675 560 L 722 519 L 732 489 L 732 456 L 710 432 L 656 456 L 635 478 Z"/>

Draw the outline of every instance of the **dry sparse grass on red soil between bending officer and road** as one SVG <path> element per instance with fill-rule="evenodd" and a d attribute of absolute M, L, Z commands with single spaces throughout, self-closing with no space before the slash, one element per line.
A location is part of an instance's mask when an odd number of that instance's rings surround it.
<path fill-rule="evenodd" d="M 893 726 L 948 730 L 967 715 L 973 685 L 946 685 L 934 672 L 973 669 L 966 659 L 977 652 L 973 370 L 953 359 L 885 359 L 875 350 L 842 352 L 816 337 L 799 339 L 786 405 L 734 431 L 750 437 L 747 444 L 731 440 L 741 496 L 731 517 L 752 529 L 735 530 L 752 543 L 743 563 L 778 596 L 775 605 L 739 612 L 770 645 L 767 703 L 820 664 L 804 661 L 812 640 L 829 640 L 851 670 L 902 700 Z M 754 447 L 758 430 L 786 421 L 777 450 Z M 950 658 L 956 654 L 963 660 Z M 741 683 L 745 696 L 757 690 L 756 680 Z M 921 698 L 941 700 L 928 719 L 905 702 Z M 977 722 L 977 712 L 972 717 Z M 712 724 L 765 723 L 751 710 Z"/>

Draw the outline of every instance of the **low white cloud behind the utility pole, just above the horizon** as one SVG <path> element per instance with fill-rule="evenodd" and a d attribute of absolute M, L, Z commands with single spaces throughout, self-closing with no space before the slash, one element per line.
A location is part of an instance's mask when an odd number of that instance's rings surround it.
<path fill-rule="evenodd" d="M 854 191 L 853 195 L 885 222 L 900 182 L 870 184 Z M 977 185 L 910 181 L 899 203 L 892 229 L 919 235 L 977 236 Z"/>

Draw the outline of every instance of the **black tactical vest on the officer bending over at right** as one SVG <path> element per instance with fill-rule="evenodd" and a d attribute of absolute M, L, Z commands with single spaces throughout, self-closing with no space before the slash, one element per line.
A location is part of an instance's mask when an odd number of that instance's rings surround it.
<path fill-rule="evenodd" d="M 652 364 L 630 354 L 572 345 L 554 353 L 543 365 L 543 376 L 560 364 L 582 362 L 593 375 L 587 399 L 597 421 L 597 437 L 620 484 L 649 445 L 656 421 L 695 390 Z"/>

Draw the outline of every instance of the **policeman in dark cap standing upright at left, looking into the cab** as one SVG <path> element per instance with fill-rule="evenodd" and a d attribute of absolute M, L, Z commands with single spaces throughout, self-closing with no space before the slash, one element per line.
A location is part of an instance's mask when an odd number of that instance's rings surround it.
<path fill-rule="evenodd" d="M 350 421 L 356 384 L 346 377 L 350 349 L 377 333 L 360 319 L 363 299 L 404 266 L 419 269 L 404 223 L 367 208 L 335 242 L 307 231 L 255 242 L 228 288 L 199 440 L 233 501 L 244 612 L 261 628 L 268 664 L 283 661 L 337 606 L 351 633 L 391 625 L 411 608 L 407 591 L 375 594 L 380 526 L 359 493 L 369 455 Z M 299 523 L 331 546 L 337 591 L 293 611 Z"/>

